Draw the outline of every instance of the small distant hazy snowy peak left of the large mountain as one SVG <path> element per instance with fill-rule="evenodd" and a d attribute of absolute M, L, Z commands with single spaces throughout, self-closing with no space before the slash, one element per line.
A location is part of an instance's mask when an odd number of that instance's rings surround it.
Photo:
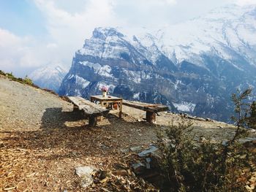
<path fill-rule="evenodd" d="M 67 69 L 63 66 L 46 66 L 35 70 L 29 74 L 31 80 L 34 84 L 41 88 L 48 88 L 50 90 L 59 91 L 59 87 L 65 75 L 67 74 Z"/>

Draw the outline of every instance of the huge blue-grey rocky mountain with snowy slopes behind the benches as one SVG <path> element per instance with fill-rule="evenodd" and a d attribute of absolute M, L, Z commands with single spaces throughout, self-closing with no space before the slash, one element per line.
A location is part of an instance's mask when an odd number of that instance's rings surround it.
<path fill-rule="evenodd" d="M 158 31 L 125 31 L 95 28 L 59 93 L 89 97 L 107 85 L 124 99 L 227 120 L 230 94 L 256 85 L 256 6 L 214 9 Z"/>

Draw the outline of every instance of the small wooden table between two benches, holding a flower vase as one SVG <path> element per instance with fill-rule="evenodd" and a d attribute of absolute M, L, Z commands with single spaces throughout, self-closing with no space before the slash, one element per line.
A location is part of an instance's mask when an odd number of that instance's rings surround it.
<path fill-rule="evenodd" d="M 91 96 L 91 102 L 97 102 L 102 105 L 102 107 L 107 107 L 108 104 L 118 104 L 119 108 L 119 118 L 121 118 L 121 112 L 122 112 L 122 104 L 123 99 L 116 96 Z"/>

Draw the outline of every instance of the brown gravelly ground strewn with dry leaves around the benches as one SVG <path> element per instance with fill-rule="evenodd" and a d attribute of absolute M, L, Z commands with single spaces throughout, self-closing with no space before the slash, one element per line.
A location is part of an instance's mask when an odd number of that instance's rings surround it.
<path fill-rule="evenodd" d="M 127 188 L 146 186 L 128 170 L 129 181 L 116 173 L 116 166 L 126 166 L 130 155 L 122 152 L 154 145 L 157 130 L 172 120 L 181 122 L 182 115 L 160 112 L 157 123 L 150 125 L 143 111 L 124 107 L 123 112 L 119 119 L 118 111 L 111 111 L 89 127 L 88 120 L 59 96 L 0 77 L 0 191 L 85 191 L 75 174 L 77 166 L 94 166 L 109 174 L 86 191 L 108 191 L 105 183 L 111 179 Z M 226 123 L 186 119 L 192 120 L 197 137 L 221 140 L 234 133 Z M 251 132 L 248 139 L 255 138 Z"/>

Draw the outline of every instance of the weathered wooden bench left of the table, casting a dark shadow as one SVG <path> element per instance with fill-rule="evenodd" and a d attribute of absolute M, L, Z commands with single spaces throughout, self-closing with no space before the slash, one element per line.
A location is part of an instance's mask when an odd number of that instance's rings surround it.
<path fill-rule="evenodd" d="M 82 110 L 84 115 L 89 117 L 89 126 L 97 125 L 97 117 L 106 115 L 109 110 L 83 99 L 80 96 L 67 96 L 67 99 L 74 104 L 74 110 Z"/>

